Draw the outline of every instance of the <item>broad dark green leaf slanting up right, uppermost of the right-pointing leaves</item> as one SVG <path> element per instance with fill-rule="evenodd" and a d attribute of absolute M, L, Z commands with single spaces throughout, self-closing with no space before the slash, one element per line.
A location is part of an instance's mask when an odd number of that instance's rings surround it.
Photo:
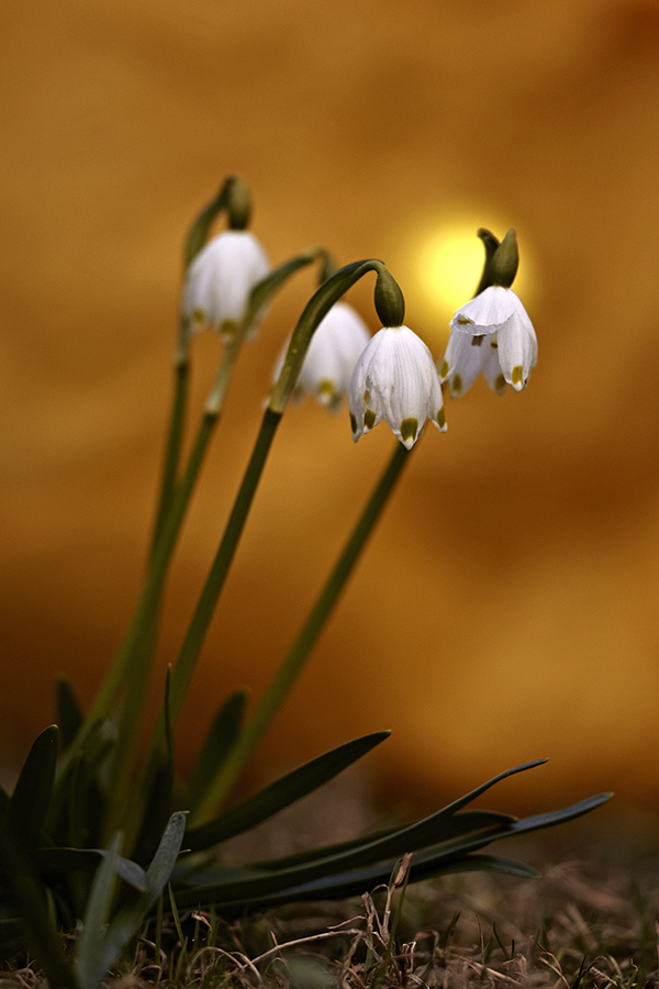
<path fill-rule="evenodd" d="M 364 735 L 304 763 L 214 821 L 190 829 L 186 834 L 186 846 L 191 852 L 199 852 L 249 831 L 261 821 L 322 787 L 388 738 L 389 734 L 390 732 L 373 732 Z"/>

